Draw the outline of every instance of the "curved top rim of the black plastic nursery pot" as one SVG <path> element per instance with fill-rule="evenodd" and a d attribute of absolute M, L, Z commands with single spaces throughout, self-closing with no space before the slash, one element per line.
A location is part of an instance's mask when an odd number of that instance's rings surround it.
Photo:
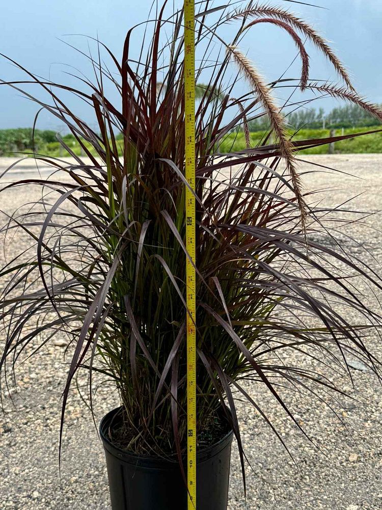
<path fill-rule="evenodd" d="M 171 464 L 179 464 L 178 457 L 176 455 L 171 455 L 168 457 L 161 456 L 161 455 L 147 455 L 147 454 L 140 454 L 140 453 L 134 453 L 127 450 L 123 450 L 119 446 L 116 446 L 112 443 L 108 437 L 106 437 L 105 434 L 105 428 L 110 420 L 113 419 L 113 417 L 119 412 L 119 410 L 122 409 L 122 405 L 119 407 L 115 407 L 112 411 L 109 411 L 100 421 L 99 424 L 99 434 L 102 439 L 104 447 L 107 447 L 108 451 L 112 454 L 117 454 L 119 457 L 132 457 L 132 460 L 135 460 L 138 462 L 141 461 L 161 461 L 161 462 L 169 462 Z M 230 412 L 229 407 L 227 407 L 228 411 Z M 212 450 L 213 454 L 219 453 L 225 446 L 227 446 L 228 443 L 232 442 L 233 440 L 233 430 L 230 430 L 222 439 L 220 439 L 217 443 L 214 443 L 212 445 L 209 445 L 205 448 L 202 448 L 197 451 L 197 458 L 198 462 L 203 462 L 204 458 L 200 457 L 208 457 L 208 454 L 211 453 Z M 183 461 L 186 460 L 186 455 L 182 455 Z"/>

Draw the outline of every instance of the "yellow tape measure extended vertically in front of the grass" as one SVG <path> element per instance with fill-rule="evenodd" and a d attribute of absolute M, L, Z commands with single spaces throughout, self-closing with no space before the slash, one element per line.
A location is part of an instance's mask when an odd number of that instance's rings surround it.
<path fill-rule="evenodd" d="M 184 0 L 185 177 L 195 191 L 195 3 Z M 195 196 L 186 187 L 186 248 L 195 263 Z M 196 508 L 196 273 L 186 260 L 187 314 L 187 485 L 188 510 Z"/>

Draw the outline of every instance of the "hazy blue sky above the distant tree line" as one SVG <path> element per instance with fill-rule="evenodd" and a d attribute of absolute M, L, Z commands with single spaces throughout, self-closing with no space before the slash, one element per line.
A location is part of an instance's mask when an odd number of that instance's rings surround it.
<path fill-rule="evenodd" d="M 298 2 L 275 0 L 275 5 L 289 8 L 313 24 L 345 63 L 357 90 L 375 103 L 382 103 L 382 0 L 307 0 L 316 6 Z M 222 5 L 223 0 L 214 5 Z M 270 2 L 272 3 L 272 2 Z M 171 6 L 170 2 L 170 6 Z M 180 6 L 176 2 L 176 6 Z M 0 20 L 0 53 L 14 59 L 41 77 L 74 85 L 68 72 L 78 71 L 87 75 L 92 69 L 84 55 L 65 43 L 88 51 L 88 42 L 78 34 L 95 37 L 104 42 L 121 58 L 123 41 L 132 25 L 145 21 L 149 16 L 151 0 L 17 0 L 7 2 Z M 77 34 L 77 35 L 69 35 Z M 141 46 L 143 25 L 134 32 L 132 50 Z M 233 34 L 228 26 L 221 35 L 229 40 Z M 64 42 L 63 42 L 64 41 Z M 278 27 L 258 25 L 245 36 L 241 49 L 255 63 L 268 81 L 277 79 L 289 66 L 296 54 L 294 43 Z M 93 50 L 94 50 L 93 45 Z M 311 55 L 311 78 L 335 80 L 336 75 L 314 47 L 307 45 Z M 72 66 L 72 67 L 70 67 Z M 76 69 L 76 71 L 73 71 Z M 298 74 L 297 62 L 287 77 Z M 0 57 L 0 79 L 9 81 L 20 78 L 13 65 Z M 244 85 L 238 85 L 244 87 Z M 39 94 L 36 88 L 28 89 Z M 243 90 L 241 90 L 243 91 Z M 39 96 L 42 97 L 42 96 Z M 85 105 L 65 97 L 78 116 L 92 123 L 91 112 Z M 117 96 L 115 96 L 117 99 Z M 283 95 L 280 93 L 279 100 Z M 330 111 L 337 102 L 320 99 L 313 105 Z M 6 85 L 0 85 L 0 129 L 29 127 L 39 107 Z M 94 120 L 94 119 L 93 119 Z M 57 120 L 43 113 L 39 116 L 40 129 L 57 129 Z"/>

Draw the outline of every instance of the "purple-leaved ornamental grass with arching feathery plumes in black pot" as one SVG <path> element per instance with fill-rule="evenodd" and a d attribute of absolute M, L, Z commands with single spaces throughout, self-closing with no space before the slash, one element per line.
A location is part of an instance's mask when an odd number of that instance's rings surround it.
<path fill-rule="evenodd" d="M 198 87 L 196 111 L 198 441 L 208 443 L 225 417 L 244 474 L 237 397 L 247 399 L 283 441 L 261 409 L 258 392 L 269 392 L 305 433 L 280 395 L 283 385 L 293 386 L 301 398 L 341 393 L 329 365 L 351 378 L 348 355 L 380 376 L 370 328 L 375 338 L 381 316 L 353 282 L 363 278 L 378 292 L 381 278 L 362 256 L 337 242 L 339 228 L 350 221 L 346 211 L 319 207 L 314 193 L 304 190 L 296 161 L 299 149 L 354 135 L 294 141 L 285 108 L 304 106 L 302 100 L 293 103 L 292 92 L 300 89 L 346 99 L 379 119 L 382 112 L 354 90 L 328 43 L 289 11 L 209 2 L 198 3 L 197 11 L 196 82 L 205 84 Z M 1 390 L 7 391 L 26 346 L 39 339 L 36 351 L 44 349 L 64 331 L 70 344 L 61 435 L 70 389 L 85 371 L 92 407 L 95 378 L 120 396 L 123 427 L 116 441 L 136 453 L 178 457 L 186 445 L 188 256 L 182 19 L 181 10 L 172 12 L 166 2 L 159 6 L 146 24 L 138 60 L 130 57 L 137 46 L 134 28 L 121 61 L 96 41 L 97 57 L 84 56 L 95 80 L 78 74 L 78 89 L 43 80 L 10 58 L 26 78 L 1 82 L 63 122 L 85 155 L 75 155 L 58 136 L 70 162 L 33 154 L 52 174 L 2 187 L 0 194 L 39 186 L 42 194 L 2 228 L 6 236 L 22 231 L 33 246 L 0 270 Z M 243 37 L 260 23 L 277 25 L 292 38 L 302 62 L 299 77 L 267 84 L 248 59 Z M 233 33 L 228 42 L 220 36 L 226 25 Z M 221 50 L 211 60 L 216 44 Z M 306 47 L 312 45 L 334 66 L 338 85 L 310 81 Z M 235 92 L 238 80 L 247 84 L 244 94 Z M 30 93 L 32 84 L 42 88 L 46 101 Z M 104 92 L 111 85 L 117 102 Z M 274 97 L 285 88 L 291 96 L 283 109 Z M 61 96 L 68 93 L 92 108 L 97 127 L 67 106 Z M 248 122 L 262 116 L 269 118 L 269 131 L 252 146 Z M 220 144 L 237 127 L 246 147 L 221 153 Z M 332 242 L 320 243 L 317 233 Z M 320 371 L 304 368 L 304 359 L 318 363 Z"/>

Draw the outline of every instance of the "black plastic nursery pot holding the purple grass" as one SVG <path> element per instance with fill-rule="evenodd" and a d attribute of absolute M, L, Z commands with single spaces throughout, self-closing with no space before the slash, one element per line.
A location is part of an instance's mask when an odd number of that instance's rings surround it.
<path fill-rule="evenodd" d="M 129 453 L 108 439 L 107 430 L 120 410 L 104 416 L 99 427 L 113 510 L 187 510 L 178 461 Z M 232 438 L 230 431 L 197 452 L 198 510 L 227 510 Z"/>

